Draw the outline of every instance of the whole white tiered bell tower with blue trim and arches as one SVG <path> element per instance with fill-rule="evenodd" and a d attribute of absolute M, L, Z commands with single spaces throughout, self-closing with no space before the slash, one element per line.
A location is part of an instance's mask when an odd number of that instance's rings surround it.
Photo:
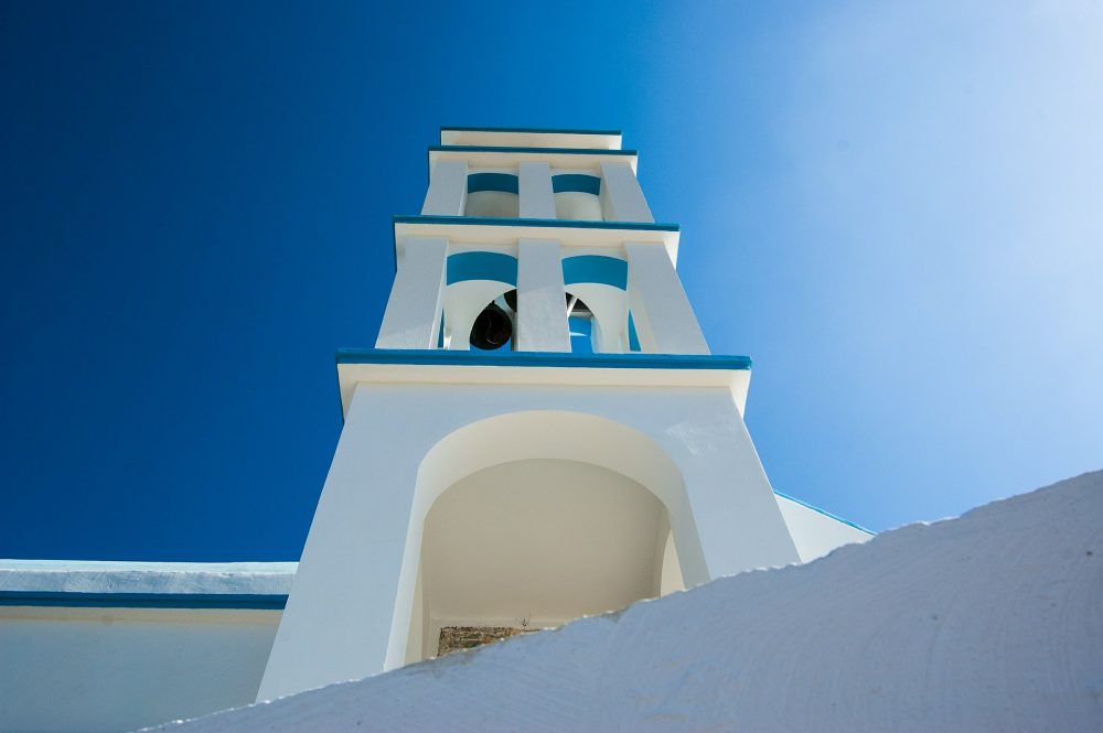
<path fill-rule="evenodd" d="M 797 511 L 799 548 L 750 360 L 709 354 L 619 132 L 440 137 L 375 348 L 338 354 L 344 430 L 260 700 L 860 539 Z"/>

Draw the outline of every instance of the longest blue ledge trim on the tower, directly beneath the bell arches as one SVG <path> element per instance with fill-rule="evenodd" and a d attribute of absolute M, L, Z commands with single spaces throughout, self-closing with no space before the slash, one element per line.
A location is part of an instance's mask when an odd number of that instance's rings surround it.
<path fill-rule="evenodd" d="M 513 367 L 583 367 L 589 369 L 713 369 L 746 371 L 751 368 L 749 356 L 718 354 L 559 354 L 549 352 L 421 351 L 393 348 L 340 348 L 336 363 L 392 364 L 425 366 L 513 366 Z"/>

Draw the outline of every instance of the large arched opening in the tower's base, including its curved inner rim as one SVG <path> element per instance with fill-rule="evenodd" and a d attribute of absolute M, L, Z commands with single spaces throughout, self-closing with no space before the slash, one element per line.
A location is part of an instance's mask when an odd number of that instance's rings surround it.
<path fill-rule="evenodd" d="M 580 412 L 450 433 L 418 470 L 410 521 L 388 668 L 436 656 L 442 628 L 555 626 L 708 579 L 673 460 Z"/>

